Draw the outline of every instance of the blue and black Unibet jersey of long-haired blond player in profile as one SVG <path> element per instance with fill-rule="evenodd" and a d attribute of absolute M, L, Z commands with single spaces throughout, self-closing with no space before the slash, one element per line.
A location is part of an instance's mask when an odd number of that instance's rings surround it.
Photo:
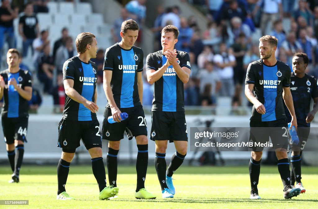
<path fill-rule="evenodd" d="M 63 80 L 74 80 L 73 88 L 88 101 L 95 101 L 95 89 L 97 82 L 97 65 L 89 61 L 82 62 L 74 56 L 65 61 L 63 65 Z M 91 112 L 83 104 L 65 96 L 63 118 L 66 120 L 90 121 L 97 120 L 96 113 Z"/>

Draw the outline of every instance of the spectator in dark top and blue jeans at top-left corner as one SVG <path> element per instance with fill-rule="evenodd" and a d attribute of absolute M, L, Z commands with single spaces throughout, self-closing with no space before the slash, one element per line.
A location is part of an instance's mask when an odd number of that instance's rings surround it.
<path fill-rule="evenodd" d="M 9 0 L 1 0 L 0 7 L 0 51 L 4 42 L 8 42 L 9 49 L 15 48 L 16 40 L 14 36 L 13 20 L 18 17 L 19 8 L 12 9 Z M 1 53 L 0 53 L 1 63 Z"/>

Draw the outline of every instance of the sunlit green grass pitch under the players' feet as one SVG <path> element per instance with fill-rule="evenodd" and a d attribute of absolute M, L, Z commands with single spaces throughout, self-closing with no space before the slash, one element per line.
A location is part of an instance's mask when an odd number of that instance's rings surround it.
<path fill-rule="evenodd" d="M 173 178 L 176 194 L 162 199 L 153 165 L 149 164 L 146 189 L 155 200 L 137 200 L 135 167 L 118 168 L 119 197 L 98 199 L 98 186 L 91 166 L 71 165 L 66 190 L 73 201 L 56 200 L 57 166 L 22 166 L 20 183 L 9 184 L 10 168 L 0 166 L 0 200 L 29 200 L 26 206 L 0 208 L 317 208 L 318 168 L 302 167 L 306 193 L 292 199 L 283 198 L 283 186 L 277 166 L 261 166 L 259 195 L 250 200 L 248 165 L 240 167 L 180 167 Z M 108 185 L 108 183 L 107 183 Z"/>

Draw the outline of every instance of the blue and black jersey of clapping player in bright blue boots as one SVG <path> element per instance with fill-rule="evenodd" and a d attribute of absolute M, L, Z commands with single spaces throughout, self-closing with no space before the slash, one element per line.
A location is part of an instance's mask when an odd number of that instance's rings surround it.
<path fill-rule="evenodd" d="M 187 52 L 177 51 L 178 63 L 191 70 L 190 56 Z M 147 56 L 147 70 L 159 70 L 167 62 L 162 50 Z M 184 111 L 183 82 L 170 65 L 162 77 L 154 83 L 154 100 L 151 111 Z"/>

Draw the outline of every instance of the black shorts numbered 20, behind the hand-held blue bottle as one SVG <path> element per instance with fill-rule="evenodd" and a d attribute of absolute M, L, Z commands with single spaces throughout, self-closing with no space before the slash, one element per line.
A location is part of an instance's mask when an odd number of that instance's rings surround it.
<path fill-rule="evenodd" d="M 119 141 L 124 138 L 126 131 L 128 139 L 140 135 L 148 135 L 145 113 L 142 105 L 128 108 L 120 108 L 121 112 L 127 112 L 128 118 L 119 123 L 108 123 L 107 118 L 112 116 L 110 107 L 104 112 L 102 138 L 109 141 Z"/>

